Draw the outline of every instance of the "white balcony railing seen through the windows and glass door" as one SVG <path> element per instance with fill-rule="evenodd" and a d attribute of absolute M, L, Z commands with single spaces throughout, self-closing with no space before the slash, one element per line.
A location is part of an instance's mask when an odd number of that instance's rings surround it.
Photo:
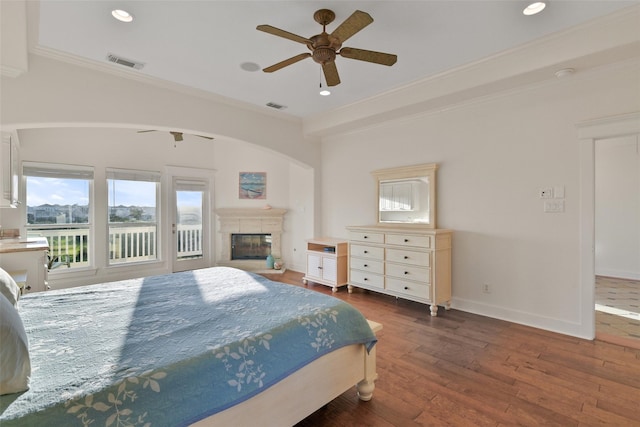
<path fill-rule="evenodd" d="M 202 256 L 202 225 L 178 225 L 178 259 Z M 45 237 L 49 243 L 49 255 L 55 265 L 70 268 L 88 267 L 89 228 L 39 228 L 30 229 L 30 237 Z M 125 264 L 157 259 L 157 230 L 155 225 L 123 225 L 109 227 L 109 264 Z"/>

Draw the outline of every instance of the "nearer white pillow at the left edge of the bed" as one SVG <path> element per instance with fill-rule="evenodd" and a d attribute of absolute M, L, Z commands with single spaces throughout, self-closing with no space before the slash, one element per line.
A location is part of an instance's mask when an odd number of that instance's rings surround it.
<path fill-rule="evenodd" d="M 0 295 L 0 395 L 29 388 L 29 342 L 18 310 Z"/>

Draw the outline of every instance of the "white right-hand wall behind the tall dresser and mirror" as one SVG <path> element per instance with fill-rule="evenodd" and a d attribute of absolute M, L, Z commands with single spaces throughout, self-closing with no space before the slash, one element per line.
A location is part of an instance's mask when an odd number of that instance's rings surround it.
<path fill-rule="evenodd" d="M 637 62 L 601 68 L 328 137 L 323 229 L 346 237 L 345 226 L 375 222 L 370 171 L 437 162 L 438 226 L 455 231 L 453 306 L 581 335 L 575 125 L 640 111 L 639 76 Z M 564 186 L 564 213 L 543 212 L 549 186 Z"/>

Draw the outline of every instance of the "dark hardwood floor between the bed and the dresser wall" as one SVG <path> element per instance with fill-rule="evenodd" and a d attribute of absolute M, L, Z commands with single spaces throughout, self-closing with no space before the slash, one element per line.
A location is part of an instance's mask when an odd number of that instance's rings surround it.
<path fill-rule="evenodd" d="M 302 274 L 267 277 L 297 285 Z M 331 294 L 327 286 L 307 288 Z M 334 294 L 382 323 L 373 399 L 349 390 L 307 426 L 640 426 L 640 350 L 375 292 Z"/>

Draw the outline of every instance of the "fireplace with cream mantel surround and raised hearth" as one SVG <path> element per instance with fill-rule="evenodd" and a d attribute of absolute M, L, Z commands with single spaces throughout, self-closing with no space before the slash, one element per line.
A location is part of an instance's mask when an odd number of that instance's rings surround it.
<path fill-rule="evenodd" d="M 220 234 L 220 252 L 216 264 L 236 267 L 247 271 L 266 270 L 265 259 L 269 253 L 274 258 L 282 259 L 282 231 L 284 214 L 286 209 L 260 209 L 260 208 L 220 208 L 216 209 Z M 238 258 L 234 253 L 236 244 L 234 236 L 265 236 L 265 244 L 249 238 L 242 238 L 242 245 L 246 245 L 248 254 Z M 267 238 L 266 236 L 269 236 Z M 262 237 L 259 237 L 262 239 Z M 270 239 L 270 241 L 268 240 Z M 266 246 L 266 243 L 269 246 Z M 286 261 L 286 260 L 284 260 Z M 282 272 L 283 270 L 269 270 L 270 272 Z"/>

